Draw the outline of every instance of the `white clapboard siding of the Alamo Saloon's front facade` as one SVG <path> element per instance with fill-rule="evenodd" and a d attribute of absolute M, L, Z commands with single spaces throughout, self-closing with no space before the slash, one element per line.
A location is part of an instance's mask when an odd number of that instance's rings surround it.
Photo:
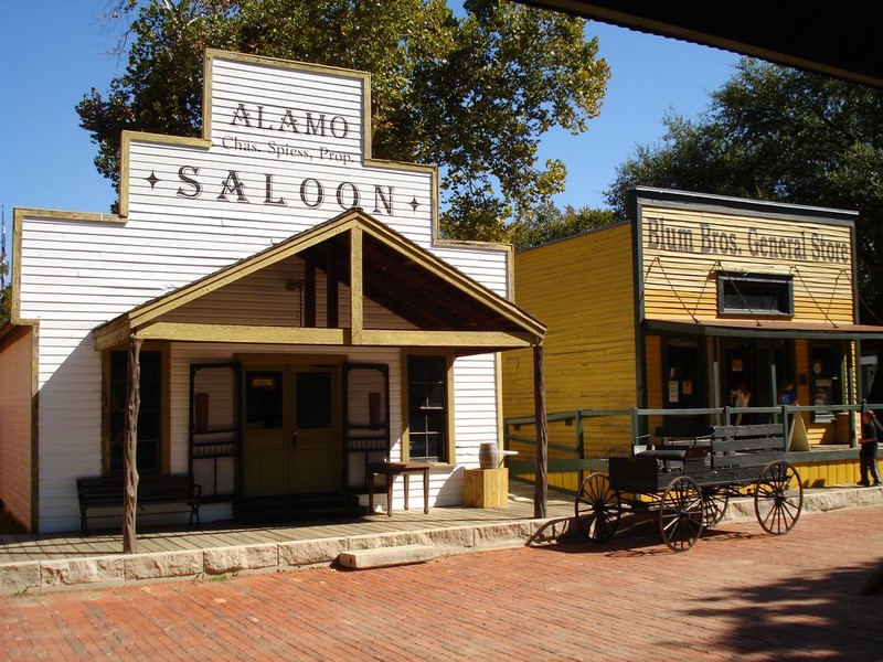
<path fill-rule="evenodd" d="M 74 479 L 100 471 L 102 360 L 92 338 L 97 325 L 355 204 L 493 292 L 508 296 L 511 290 L 508 248 L 435 242 L 435 168 L 370 159 L 364 125 L 366 76 L 217 55 L 210 62 L 212 97 L 204 103 L 211 108 L 211 135 L 205 145 L 127 135 L 124 156 L 128 161 L 121 182 L 125 218 L 89 220 L 77 214 L 64 218 L 40 211 L 17 214 L 20 314 L 40 324 L 41 531 L 75 528 Z M 255 121 L 258 107 L 268 121 Z M 313 126 L 325 127 L 325 136 L 318 129 L 280 131 L 279 117 L 289 110 L 304 122 L 301 128 L 309 115 Z M 248 122 L 243 111 L 249 114 Z M 285 149 L 274 151 L 276 147 Z M 243 278 L 167 319 L 297 325 L 297 291 L 286 289 L 288 280 L 298 279 L 297 264 L 292 258 Z M 326 282 L 321 275 L 317 280 L 317 322 L 321 324 Z M 339 300 L 340 324 L 345 325 L 350 314 L 345 286 Z M 364 324 L 369 329 L 413 328 L 373 301 L 364 302 Z M 392 457 L 402 457 L 401 352 L 396 349 L 173 344 L 173 471 L 187 469 L 190 363 L 226 361 L 237 351 L 345 353 L 351 361 L 389 363 Z M 462 409 L 456 415 L 458 463 L 462 459 L 477 465 L 479 444 L 498 436 L 493 357 L 458 360 L 455 394 L 456 406 Z M 21 439 L 30 439 L 30 433 Z M 17 436 L 12 446 L 20 446 L 21 439 Z M 29 468 L 15 462 L 19 476 L 26 477 Z M 447 467 L 433 471 L 436 503 L 461 502 L 461 474 Z"/>

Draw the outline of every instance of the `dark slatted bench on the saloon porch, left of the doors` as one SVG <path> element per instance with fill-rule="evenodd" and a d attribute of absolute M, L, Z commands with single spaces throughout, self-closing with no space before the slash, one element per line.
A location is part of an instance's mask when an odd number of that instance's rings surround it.
<path fill-rule="evenodd" d="M 96 476 L 76 479 L 79 500 L 79 527 L 88 535 L 88 510 L 124 505 L 125 474 Z M 143 473 L 138 477 L 138 505 L 181 503 L 190 508 L 190 524 L 200 523 L 202 487 L 187 473 Z M 96 515 L 93 515 L 96 516 Z M 110 516 L 110 515 L 98 515 Z"/>

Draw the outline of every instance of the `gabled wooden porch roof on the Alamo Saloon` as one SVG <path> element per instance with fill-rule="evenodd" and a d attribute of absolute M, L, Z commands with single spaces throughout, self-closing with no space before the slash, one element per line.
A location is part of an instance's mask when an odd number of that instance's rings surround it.
<path fill-rule="evenodd" d="M 252 325 L 182 321 L 180 314 L 175 321 L 168 319 L 187 303 L 292 256 L 325 271 L 329 284 L 348 286 L 349 301 L 342 302 L 349 305 L 348 328 L 333 323 L 320 328 L 315 320 L 302 325 Z M 312 287 L 307 296 L 316 296 L 315 284 Z M 337 291 L 332 296 L 328 306 L 336 308 Z M 366 328 L 365 299 L 413 329 Z M 93 330 L 96 350 L 119 346 L 135 337 L 181 342 L 445 346 L 461 354 L 536 345 L 544 334 L 545 325 L 536 318 L 362 210 L 344 212 Z"/>

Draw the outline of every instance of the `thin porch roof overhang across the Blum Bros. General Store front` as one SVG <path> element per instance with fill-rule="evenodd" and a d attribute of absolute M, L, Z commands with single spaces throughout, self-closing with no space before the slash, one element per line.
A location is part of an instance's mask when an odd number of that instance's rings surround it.
<path fill-rule="evenodd" d="M 883 327 L 786 320 L 645 320 L 645 329 L 659 333 L 708 337 L 804 338 L 815 340 L 881 340 Z"/>

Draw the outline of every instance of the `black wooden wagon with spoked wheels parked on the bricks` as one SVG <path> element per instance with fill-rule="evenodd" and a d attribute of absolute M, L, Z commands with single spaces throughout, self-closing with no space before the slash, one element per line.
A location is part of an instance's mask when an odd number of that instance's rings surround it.
<path fill-rule="evenodd" d="M 610 457 L 607 474 L 582 482 L 575 514 L 588 540 L 609 540 L 624 513 L 656 512 L 662 541 L 683 552 L 721 521 L 736 496 L 753 496 L 757 521 L 769 534 L 785 534 L 797 523 L 804 490 L 785 460 L 781 425 L 663 427 L 657 437 L 662 442 Z"/>

